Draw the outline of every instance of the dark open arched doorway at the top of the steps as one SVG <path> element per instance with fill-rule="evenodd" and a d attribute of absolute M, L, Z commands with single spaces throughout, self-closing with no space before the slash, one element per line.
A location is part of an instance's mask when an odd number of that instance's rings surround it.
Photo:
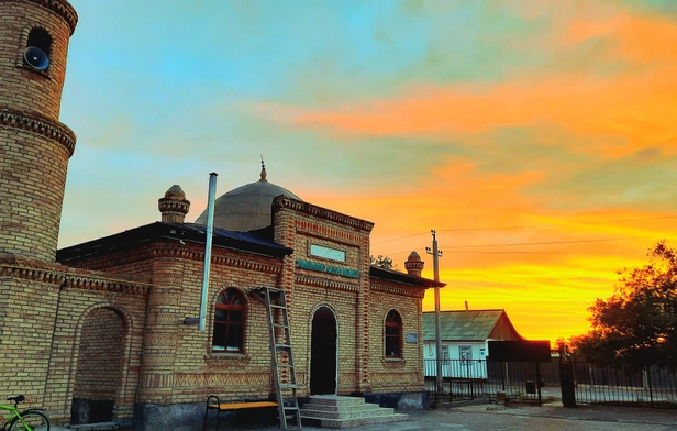
<path fill-rule="evenodd" d="M 310 394 L 336 394 L 336 317 L 320 307 L 312 318 L 310 339 Z"/>

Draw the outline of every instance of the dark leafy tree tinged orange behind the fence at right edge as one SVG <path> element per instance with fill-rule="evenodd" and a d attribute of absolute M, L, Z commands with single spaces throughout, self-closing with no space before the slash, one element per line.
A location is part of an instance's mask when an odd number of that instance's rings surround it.
<path fill-rule="evenodd" d="M 647 265 L 619 272 L 614 294 L 588 309 L 592 330 L 571 340 L 577 355 L 630 369 L 677 367 L 677 256 L 665 241 L 648 256 Z"/>

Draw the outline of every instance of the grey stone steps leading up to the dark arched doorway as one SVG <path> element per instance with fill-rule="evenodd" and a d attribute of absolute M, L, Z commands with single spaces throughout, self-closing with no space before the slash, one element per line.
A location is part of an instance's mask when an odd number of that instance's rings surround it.
<path fill-rule="evenodd" d="M 301 408 L 304 424 L 322 428 L 352 428 L 373 423 L 388 423 L 408 420 L 409 415 L 396 413 L 391 408 L 367 404 L 359 397 L 318 395 L 310 397 Z"/>

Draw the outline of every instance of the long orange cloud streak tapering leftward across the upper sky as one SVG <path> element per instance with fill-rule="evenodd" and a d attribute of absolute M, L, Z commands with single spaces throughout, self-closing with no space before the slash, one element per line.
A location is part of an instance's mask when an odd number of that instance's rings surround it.
<path fill-rule="evenodd" d="M 669 76 L 669 78 L 668 78 Z M 471 134 L 502 126 L 541 122 L 563 124 L 580 134 L 615 136 L 623 145 L 597 151 L 618 157 L 657 146 L 676 154 L 677 67 L 655 77 L 625 74 L 613 78 L 582 73 L 522 79 L 479 87 L 419 87 L 398 99 L 343 107 L 334 111 L 278 110 L 295 128 L 367 136 L 440 136 Z M 279 115 L 281 113 L 281 115 Z M 286 117 L 286 119 L 285 119 Z"/>

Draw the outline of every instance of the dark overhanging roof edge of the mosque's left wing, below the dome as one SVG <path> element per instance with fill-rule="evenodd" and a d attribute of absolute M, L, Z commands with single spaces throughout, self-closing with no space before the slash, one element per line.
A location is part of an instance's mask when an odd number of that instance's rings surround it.
<path fill-rule="evenodd" d="M 155 241 L 204 244 L 204 231 L 206 226 L 200 224 L 167 223 L 158 221 L 130 229 L 114 235 L 62 248 L 56 252 L 56 261 L 65 264 L 69 261 L 101 256 L 122 250 L 131 250 Z M 293 253 L 291 248 L 255 234 L 233 232 L 219 228 L 214 228 L 213 246 L 270 257 L 282 257 Z"/>

